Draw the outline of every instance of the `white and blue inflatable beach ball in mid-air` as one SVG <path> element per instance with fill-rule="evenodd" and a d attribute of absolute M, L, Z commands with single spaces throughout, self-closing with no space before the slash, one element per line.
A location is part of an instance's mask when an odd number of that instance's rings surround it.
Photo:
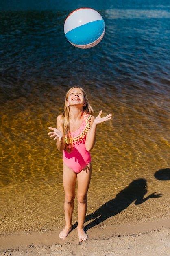
<path fill-rule="evenodd" d="M 68 15 L 64 23 L 64 34 L 78 48 L 97 45 L 105 34 L 105 22 L 97 11 L 80 8 Z"/>

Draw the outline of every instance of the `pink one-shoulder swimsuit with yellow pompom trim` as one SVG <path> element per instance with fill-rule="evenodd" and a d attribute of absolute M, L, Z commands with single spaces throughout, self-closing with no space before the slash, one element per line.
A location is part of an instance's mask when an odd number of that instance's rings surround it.
<path fill-rule="evenodd" d="M 75 173 L 82 171 L 87 164 L 91 162 L 91 155 L 85 148 L 86 133 L 90 128 L 91 115 L 83 114 L 84 120 L 75 132 L 71 132 L 71 141 L 73 149 L 70 153 L 63 151 L 63 162 Z M 67 137 L 65 137 L 67 144 Z"/>

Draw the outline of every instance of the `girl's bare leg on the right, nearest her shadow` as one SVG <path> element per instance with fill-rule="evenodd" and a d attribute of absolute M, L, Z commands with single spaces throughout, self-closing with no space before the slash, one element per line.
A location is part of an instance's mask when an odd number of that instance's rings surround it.
<path fill-rule="evenodd" d="M 87 212 L 87 191 L 89 189 L 92 174 L 92 165 L 88 164 L 80 173 L 77 174 L 77 198 L 78 198 L 78 238 L 79 242 L 85 241 L 88 236 L 84 231 L 84 222 Z"/>

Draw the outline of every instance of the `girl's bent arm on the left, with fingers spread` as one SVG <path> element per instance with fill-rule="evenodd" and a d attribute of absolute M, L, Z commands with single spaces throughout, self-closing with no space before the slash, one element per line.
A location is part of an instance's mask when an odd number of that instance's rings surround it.
<path fill-rule="evenodd" d="M 57 129 L 52 127 L 48 127 L 48 129 L 53 130 L 52 132 L 49 132 L 48 135 L 50 135 L 50 138 L 54 137 L 54 140 L 57 139 L 56 141 L 57 149 L 60 152 L 63 152 L 63 150 L 65 149 L 65 144 L 64 144 L 63 128 L 61 126 L 61 115 L 57 117 Z"/>

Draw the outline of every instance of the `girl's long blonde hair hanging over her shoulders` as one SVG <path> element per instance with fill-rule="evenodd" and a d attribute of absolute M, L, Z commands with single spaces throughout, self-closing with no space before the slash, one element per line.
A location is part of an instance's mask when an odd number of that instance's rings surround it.
<path fill-rule="evenodd" d="M 67 100 L 68 96 L 70 94 L 70 91 L 74 88 L 78 88 L 83 92 L 83 96 L 85 98 L 85 101 L 87 102 L 85 106 L 83 106 L 83 113 L 94 115 L 94 110 L 91 107 L 89 100 L 87 98 L 87 94 L 85 90 L 81 86 L 74 86 L 68 90 L 65 96 L 65 105 L 64 105 L 64 111 L 61 116 L 61 126 L 63 128 L 64 136 L 67 137 L 68 144 L 65 144 L 65 150 L 70 152 L 72 150 L 72 143 L 69 139 L 70 134 L 70 108 L 67 106 Z"/>

